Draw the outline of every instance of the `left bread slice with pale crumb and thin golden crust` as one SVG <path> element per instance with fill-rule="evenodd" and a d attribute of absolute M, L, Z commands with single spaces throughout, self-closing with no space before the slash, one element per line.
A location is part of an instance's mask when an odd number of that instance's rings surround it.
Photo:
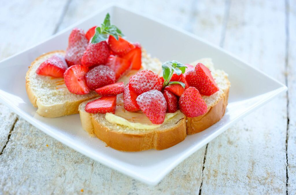
<path fill-rule="evenodd" d="M 70 93 L 63 78 L 37 75 L 39 65 L 54 54 L 65 55 L 65 51 L 52 51 L 36 58 L 26 74 L 26 90 L 37 113 L 54 118 L 78 113 L 81 102 L 98 96 L 95 91 L 85 95 Z"/>

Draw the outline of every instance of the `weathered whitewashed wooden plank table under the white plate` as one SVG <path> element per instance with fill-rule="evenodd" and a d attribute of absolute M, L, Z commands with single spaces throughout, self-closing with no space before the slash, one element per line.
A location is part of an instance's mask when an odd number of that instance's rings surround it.
<path fill-rule="evenodd" d="M 0 59 L 106 2 L 1 1 Z M 0 194 L 296 194 L 296 1 L 112 2 L 231 51 L 289 91 L 194 153 L 157 186 L 75 152 L 0 104 Z"/>

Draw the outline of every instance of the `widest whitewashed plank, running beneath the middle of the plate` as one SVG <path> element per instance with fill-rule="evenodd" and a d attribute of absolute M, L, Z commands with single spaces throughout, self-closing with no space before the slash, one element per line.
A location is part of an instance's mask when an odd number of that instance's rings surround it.
<path fill-rule="evenodd" d="M 58 31 L 96 11 L 103 3 L 105 1 L 84 1 L 81 4 L 81 1 L 73 0 Z M 200 16 L 214 14 L 217 18 L 223 17 L 224 3 L 200 1 L 198 4 L 182 4 L 179 1 L 172 1 L 164 5 L 156 0 L 120 3 L 202 35 L 216 44 L 220 41 L 213 37 L 220 36 L 222 20 L 214 20 L 208 26 L 204 23 L 206 17 Z M 198 12 L 194 12 L 196 8 Z M 35 25 L 39 23 L 41 21 Z M 208 32 L 202 31 L 203 28 Z M 0 189 L 4 193 L 48 191 L 48 193 L 67 194 L 78 193 L 82 188 L 88 194 L 120 194 L 123 190 L 151 194 L 199 191 L 205 147 L 176 167 L 158 186 L 151 187 L 63 146 L 22 119 L 15 126 L 10 141 L 0 157 L 0 175 L 5 175 L 0 177 Z M 46 144 L 49 146 L 46 147 Z"/>

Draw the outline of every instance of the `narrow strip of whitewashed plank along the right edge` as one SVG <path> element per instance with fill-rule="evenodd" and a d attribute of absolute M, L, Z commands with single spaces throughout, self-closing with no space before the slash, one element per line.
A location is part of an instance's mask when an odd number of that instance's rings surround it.
<path fill-rule="evenodd" d="M 296 2 L 287 1 L 287 16 L 289 17 L 288 31 L 288 64 L 287 86 L 289 88 L 289 126 L 287 140 L 288 157 L 288 194 L 296 194 Z"/>

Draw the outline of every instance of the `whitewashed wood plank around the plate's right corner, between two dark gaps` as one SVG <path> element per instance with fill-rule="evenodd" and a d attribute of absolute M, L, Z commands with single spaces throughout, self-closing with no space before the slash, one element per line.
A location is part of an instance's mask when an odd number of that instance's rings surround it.
<path fill-rule="evenodd" d="M 284 10 L 284 1 L 231 1 L 224 43 L 283 83 Z M 286 130 L 283 94 L 210 142 L 201 194 L 286 194 Z"/>

